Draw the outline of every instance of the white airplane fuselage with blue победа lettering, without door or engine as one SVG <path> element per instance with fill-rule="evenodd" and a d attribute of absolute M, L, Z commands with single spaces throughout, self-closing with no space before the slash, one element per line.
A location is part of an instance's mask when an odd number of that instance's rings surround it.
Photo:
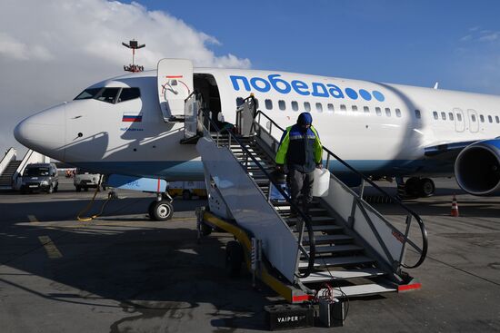
<path fill-rule="evenodd" d="M 195 89 L 201 84 L 205 100 L 222 111 L 226 122 L 235 122 L 237 98 L 250 93 L 259 109 L 282 127 L 310 112 L 323 145 L 366 174 L 451 175 L 454 161 L 426 159 L 425 147 L 500 133 L 498 96 L 275 71 L 198 68 L 194 75 Z M 167 181 L 203 178 L 195 145 L 179 144 L 184 124 L 164 121 L 155 71 L 93 87 L 135 87 L 140 98 L 63 103 L 21 122 L 16 139 L 99 173 Z M 140 122 L 125 121 L 127 114 L 140 114 Z"/>

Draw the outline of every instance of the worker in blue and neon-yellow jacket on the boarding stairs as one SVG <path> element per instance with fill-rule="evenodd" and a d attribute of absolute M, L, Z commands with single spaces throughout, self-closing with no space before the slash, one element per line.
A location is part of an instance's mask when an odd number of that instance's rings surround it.
<path fill-rule="evenodd" d="M 285 172 L 286 165 L 295 207 L 299 207 L 299 194 L 302 193 L 302 210 L 306 215 L 313 201 L 315 168 L 323 168 L 323 147 L 312 122 L 311 113 L 300 113 L 295 125 L 283 133 L 275 158 L 276 171 Z M 293 208 L 290 216 L 296 216 Z"/>

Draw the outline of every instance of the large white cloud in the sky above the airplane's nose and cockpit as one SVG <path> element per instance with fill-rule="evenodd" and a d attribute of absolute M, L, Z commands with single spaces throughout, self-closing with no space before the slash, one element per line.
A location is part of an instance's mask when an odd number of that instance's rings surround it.
<path fill-rule="evenodd" d="M 136 63 L 155 69 L 159 59 L 192 59 L 198 66 L 248 68 L 248 59 L 217 55 L 221 43 L 161 11 L 105 0 L 4 0 L 0 11 L 0 132 L 12 138 L 15 123 L 71 99 L 91 83 L 123 73 L 131 61 L 121 42 L 146 44 Z M 4 138 L 1 138 L 4 139 Z M 3 145 L 3 144 L 2 144 Z M 0 147 L 0 150 L 3 147 Z"/>

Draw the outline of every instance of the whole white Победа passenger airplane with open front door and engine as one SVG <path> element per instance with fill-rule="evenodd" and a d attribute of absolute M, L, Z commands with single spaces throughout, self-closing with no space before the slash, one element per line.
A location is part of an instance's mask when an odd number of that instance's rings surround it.
<path fill-rule="evenodd" d="M 250 94 L 282 127 L 301 112 L 312 113 L 325 147 L 366 175 L 396 177 L 399 183 L 407 178 L 406 191 L 414 196 L 434 193 L 429 177 L 453 175 L 470 194 L 500 191 L 500 96 L 437 85 L 194 68 L 186 59 L 162 59 L 157 70 L 95 83 L 73 101 L 27 117 L 15 127 L 15 139 L 98 173 L 202 181 L 195 145 L 180 144 L 185 98 L 194 91 L 225 122 L 235 123 L 236 107 Z M 281 133 L 275 135 L 279 140 Z M 344 165 L 333 162 L 330 168 L 355 186 L 357 178 Z"/>

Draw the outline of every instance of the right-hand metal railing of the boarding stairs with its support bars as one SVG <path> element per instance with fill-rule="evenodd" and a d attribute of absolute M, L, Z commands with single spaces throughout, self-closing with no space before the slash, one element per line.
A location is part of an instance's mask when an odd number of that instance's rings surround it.
<path fill-rule="evenodd" d="M 265 117 L 265 119 L 269 122 L 269 126 L 263 126 L 261 124 L 261 116 Z M 261 128 L 267 128 L 267 130 L 268 130 L 267 133 L 270 136 L 272 135 L 272 132 L 273 132 L 273 126 L 275 126 L 281 132 L 285 132 L 284 128 L 282 128 L 274 120 L 272 120 L 269 116 L 267 116 L 265 113 L 263 113 L 260 110 L 258 110 L 256 112 L 255 118 L 256 118 L 255 122 L 259 126 L 261 126 Z M 272 148 L 274 149 L 275 147 L 272 147 Z M 398 232 L 400 232 L 403 235 L 403 240 L 401 240 L 403 242 L 403 247 L 402 247 L 402 250 L 401 250 L 400 257 L 399 257 L 398 265 L 401 266 L 401 267 L 403 267 L 403 268 L 405 268 L 405 269 L 415 269 L 416 267 L 420 266 L 424 262 L 424 260 L 425 260 L 425 256 L 427 254 L 427 248 L 428 248 L 427 231 L 425 230 L 425 224 L 424 224 L 423 220 L 420 218 L 420 216 L 418 216 L 418 214 L 416 214 L 415 211 L 412 211 L 411 209 L 409 209 L 397 197 L 391 196 L 389 193 L 387 193 L 386 191 L 384 191 L 383 189 L 381 189 L 377 184 L 375 184 L 374 181 L 370 180 L 367 176 L 365 176 L 365 174 L 361 173 L 360 171 L 355 170 L 355 168 L 353 168 L 347 162 L 345 162 L 340 157 L 338 157 L 337 155 L 335 155 L 334 152 L 331 152 L 330 150 L 328 150 L 325 147 L 323 147 L 323 150 L 326 152 L 326 162 L 325 162 L 325 168 L 326 169 L 329 168 L 330 161 L 331 161 L 332 158 L 334 158 L 336 161 L 342 163 L 349 171 L 354 172 L 363 181 L 366 181 L 370 185 L 372 185 L 375 188 L 376 191 L 379 191 L 380 193 L 382 193 L 383 196 L 385 196 L 386 198 L 388 198 L 391 201 L 395 202 L 404 211 L 406 211 L 406 220 L 405 220 L 406 228 L 405 228 L 405 232 L 401 232 L 401 231 L 398 230 Z M 366 207 L 370 207 L 370 205 L 367 202 L 365 202 L 363 200 L 363 198 L 361 198 L 361 196 L 359 196 L 357 194 L 356 194 L 356 196 L 357 196 L 357 198 L 356 198 L 356 200 L 354 202 L 354 205 L 357 205 L 357 207 L 360 208 L 360 210 L 365 215 L 365 217 L 367 217 L 367 214 L 366 214 L 366 211 L 365 211 L 365 206 Z M 351 216 L 354 216 L 354 210 L 355 210 L 355 206 L 353 206 L 353 213 L 351 214 Z M 397 228 L 394 225 L 392 225 L 388 220 L 386 220 L 380 214 L 378 214 L 378 212 L 376 212 L 376 214 L 385 221 L 385 223 L 387 224 L 387 226 L 389 226 L 393 230 L 397 230 Z M 412 240 L 409 239 L 410 227 L 411 227 L 412 220 L 414 220 L 414 219 L 416 220 L 416 222 L 418 224 L 418 227 L 420 229 L 421 235 L 422 235 L 422 248 L 418 247 L 415 244 L 414 241 L 412 241 Z M 367 220 L 369 221 L 369 219 L 367 219 Z M 370 227 L 373 228 L 373 225 L 370 225 Z M 375 237 L 376 236 L 378 236 L 378 235 L 375 233 Z M 386 249 L 386 246 L 385 246 L 384 242 L 380 239 L 380 237 L 376 237 L 376 238 L 379 241 L 382 249 L 385 251 L 385 254 L 387 254 L 388 250 Z M 417 253 L 420 254 L 419 259 L 416 261 L 416 263 L 414 265 L 406 265 L 405 263 L 402 262 L 402 260 L 403 260 L 403 258 L 405 256 L 405 247 L 406 247 L 406 244 L 410 245 L 414 250 L 416 250 Z M 390 255 L 389 255 L 389 257 L 391 258 Z"/>

